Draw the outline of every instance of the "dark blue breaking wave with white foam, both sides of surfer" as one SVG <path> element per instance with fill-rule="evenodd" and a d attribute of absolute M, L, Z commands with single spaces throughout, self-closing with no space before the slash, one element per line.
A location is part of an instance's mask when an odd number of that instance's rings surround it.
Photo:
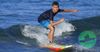
<path fill-rule="evenodd" d="M 75 26 L 73 26 L 72 24 Z M 63 22 L 60 25 L 56 27 L 55 31 L 55 37 L 59 37 L 64 35 L 67 38 L 64 38 L 62 41 L 67 42 L 67 44 L 75 45 L 75 48 L 73 49 L 75 52 L 100 52 L 100 23 L 99 23 L 99 17 L 91 18 L 91 19 L 84 19 L 84 20 L 78 20 L 78 21 L 72 21 L 69 22 Z M 70 28 L 67 29 L 67 27 Z M 75 29 L 77 27 L 77 29 Z M 90 30 L 95 33 L 96 35 L 96 45 L 91 49 L 86 49 L 84 47 L 81 47 L 81 45 L 78 42 L 78 36 L 80 32 Z M 28 25 L 28 24 L 18 24 L 13 25 L 9 28 L 2 29 L 0 28 L 0 42 L 4 42 L 5 40 L 10 42 L 14 41 L 18 44 L 23 44 L 27 46 L 38 46 L 41 44 L 47 43 L 47 33 L 48 29 L 43 28 L 40 25 Z M 74 33 L 72 33 L 74 31 Z M 71 36 L 69 35 L 70 33 Z M 45 41 L 45 40 L 46 41 Z M 65 41 L 66 40 L 66 41 Z M 60 41 L 61 42 L 61 41 Z M 92 51 L 91 51 L 92 50 Z"/>

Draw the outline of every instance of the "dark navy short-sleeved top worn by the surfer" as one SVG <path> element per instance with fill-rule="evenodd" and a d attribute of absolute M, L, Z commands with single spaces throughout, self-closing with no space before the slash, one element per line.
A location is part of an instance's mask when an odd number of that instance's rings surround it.
<path fill-rule="evenodd" d="M 63 9 L 59 9 L 58 12 L 63 12 Z M 44 20 L 54 20 L 54 16 L 58 13 L 53 13 L 52 9 L 47 10 L 43 12 L 39 17 L 38 17 L 38 22 L 42 22 Z"/>

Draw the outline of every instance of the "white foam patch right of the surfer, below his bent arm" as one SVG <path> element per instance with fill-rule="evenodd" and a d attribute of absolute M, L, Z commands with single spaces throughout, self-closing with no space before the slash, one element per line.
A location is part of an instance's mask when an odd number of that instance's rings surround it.
<path fill-rule="evenodd" d="M 63 32 L 75 31 L 75 27 L 68 22 L 62 22 L 55 28 L 55 36 L 61 36 Z"/>

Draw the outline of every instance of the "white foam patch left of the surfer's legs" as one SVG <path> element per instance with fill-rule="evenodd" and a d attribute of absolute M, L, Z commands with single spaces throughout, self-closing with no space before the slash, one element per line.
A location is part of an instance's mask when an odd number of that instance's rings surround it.
<path fill-rule="evenodd" d="M 31 39 L 35 38 L 37 42 L 41 45 L 48 44 L 48 38 L 47 35 L 44 34 L 45 28 L 43 27 L 37 27 L 37 26 L 30 26 L 26 25 L 24 29 L 22 30 L 22 34 L 25 37 L 29 37 Z M 42 30 L 41 30 L 42 29 Z M 43 31 L 44 30 L 44 31 Z M 43 32 L 42 32 L 43 31 Z"/>

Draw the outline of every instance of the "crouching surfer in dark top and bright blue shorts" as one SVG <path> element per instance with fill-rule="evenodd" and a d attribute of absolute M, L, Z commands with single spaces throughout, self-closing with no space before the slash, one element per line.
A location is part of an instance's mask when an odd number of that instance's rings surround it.
<path fill-rule="evenodd" d="M 48 39 L 50 43 L 53 43 L 55 26 L 64 21 L 64 18 L 61 18 L 57 22 L 54 22 L 54 16 L 58 12 L 77 12 L 77 11 L 78 10 L 59 9 L 59 3 L 57 1 L 54 1 L 52 3 L 52 9 L 43 12 L 39 16 L 38 22 L 43 27 L 48 28 L 50 30 L 50 32 L 48 33 Z"/>

